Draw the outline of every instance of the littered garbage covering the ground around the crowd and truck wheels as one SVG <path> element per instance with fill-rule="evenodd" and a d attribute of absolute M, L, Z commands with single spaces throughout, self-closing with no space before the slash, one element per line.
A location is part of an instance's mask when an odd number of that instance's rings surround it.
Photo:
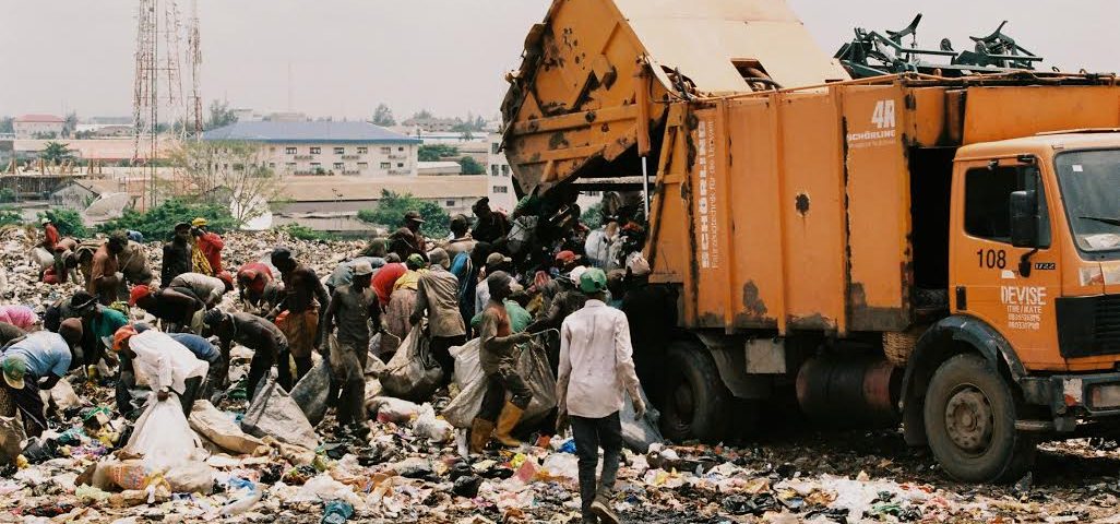
<path fill-rule="evenodd" d="M 284 244 L 327 274 L 362 247 L 281 235 L 230 235 L 227 260 L 260 260 Z M 31 238 L 20 228 L 0 232 L 4 302 L 41 306 L 73 292 L 35 282 Z M 146 251 L 158 266 L 158 244 Z M 231 296 L 226 301 L 235 307 Z M 413 345 L 405 339 L 402 347 L 398 355 Z M 457 348 L 458 362 L 469 364 L 470 352 L 470 344 Z M 113 378 L 75 373 L 46 394 L 50 428 L 43 436 L 26 439 L 0 418 L 0 521 L 579 521 L 570 437 L 534 433 L 519 449 L 467 455 L 463 427 L 478 373 L 470 365 L 456 366 L 454 397 L 423 395 L 417 400 L 427 402 L 417 403 L 391 394 L 401 363 L 371 356 L 371 434 L 356 439 L 334 432 L 320 387 L 326 365 L 318 363 L 290 394 L 271 376 L 250 403 L 251 357 L 234 347 L 233 385 L 197 401 L 188 415 L 174 395 L 152 395 L 129 420 L 115 412 Z M 526 376 L 540 365 L 533 350 L 522 361 Z M 528 411 L 547 411 L 553 394 L 547 390 Z M 943 478 L 896 431 L 802 431 L 747 448 L 669 446 L 650 420 L 623 418 L 628 449 L 616 508 L 626 522 L 1120 522 L 1116 442 L 1047 445 L 1034 477 L 976 487 Z"/>

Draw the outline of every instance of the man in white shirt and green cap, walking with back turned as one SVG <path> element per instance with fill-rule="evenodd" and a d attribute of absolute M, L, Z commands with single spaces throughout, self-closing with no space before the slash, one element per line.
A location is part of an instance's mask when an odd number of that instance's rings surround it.
<path fill-rule="evenodd" d="M 645 415 L 645 403 L 638 393 L 626 315 L 605 302 L 607 275 L 600 269 L 589 269 L 580 275 L 579 289 L 588 296 L 587 303 L 564 319 L 560 328 L 557 432 L 570 420 L 579 456 L 582 522 L 595 523 L 598 516 L 603 522 L 618 524 L 609 503 L 623 449 L 618 412 L 624 392 L 634 399 L 637 419 Z M 600 447 L 603 478 L 596 486 Z"/>

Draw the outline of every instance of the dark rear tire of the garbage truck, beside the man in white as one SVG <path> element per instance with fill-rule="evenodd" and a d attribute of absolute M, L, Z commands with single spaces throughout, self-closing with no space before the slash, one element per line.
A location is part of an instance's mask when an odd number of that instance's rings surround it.
<path fill-rule="evenodd" d="M 730 392 L 716 363 L 702 346 L 676 343 L 670 346 L 665 364 L 664 437 L 676 442 L 720 442 L 729 428 Z"/>

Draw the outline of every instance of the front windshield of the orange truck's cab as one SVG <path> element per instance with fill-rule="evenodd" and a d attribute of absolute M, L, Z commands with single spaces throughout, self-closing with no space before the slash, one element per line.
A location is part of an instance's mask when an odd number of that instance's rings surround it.
<path fill-rule="evenodd" d="M 1054 163 L 1077 247 L 1120 250 L 1120 150 L 1070 151 Z"/>

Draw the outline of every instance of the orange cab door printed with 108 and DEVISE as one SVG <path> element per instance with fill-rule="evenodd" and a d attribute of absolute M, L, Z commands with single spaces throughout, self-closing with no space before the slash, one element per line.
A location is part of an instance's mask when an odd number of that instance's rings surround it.
<path fill-rule="evenodd" d="M 1065 368 L 1056 347 L 1060 251 L 1051 246 L 1047 193 L 1034 157 L 960 162 L 953 181 L 953 311 L 999 330 L 1027 368 Z M 1021 160 L 1021 161 L 1020 161 Z M 1037 197 L 1037 250 L 1011 241 L 1016 191 Z M 1020 193 L 1018 198 L 1025 194 Z"/>

